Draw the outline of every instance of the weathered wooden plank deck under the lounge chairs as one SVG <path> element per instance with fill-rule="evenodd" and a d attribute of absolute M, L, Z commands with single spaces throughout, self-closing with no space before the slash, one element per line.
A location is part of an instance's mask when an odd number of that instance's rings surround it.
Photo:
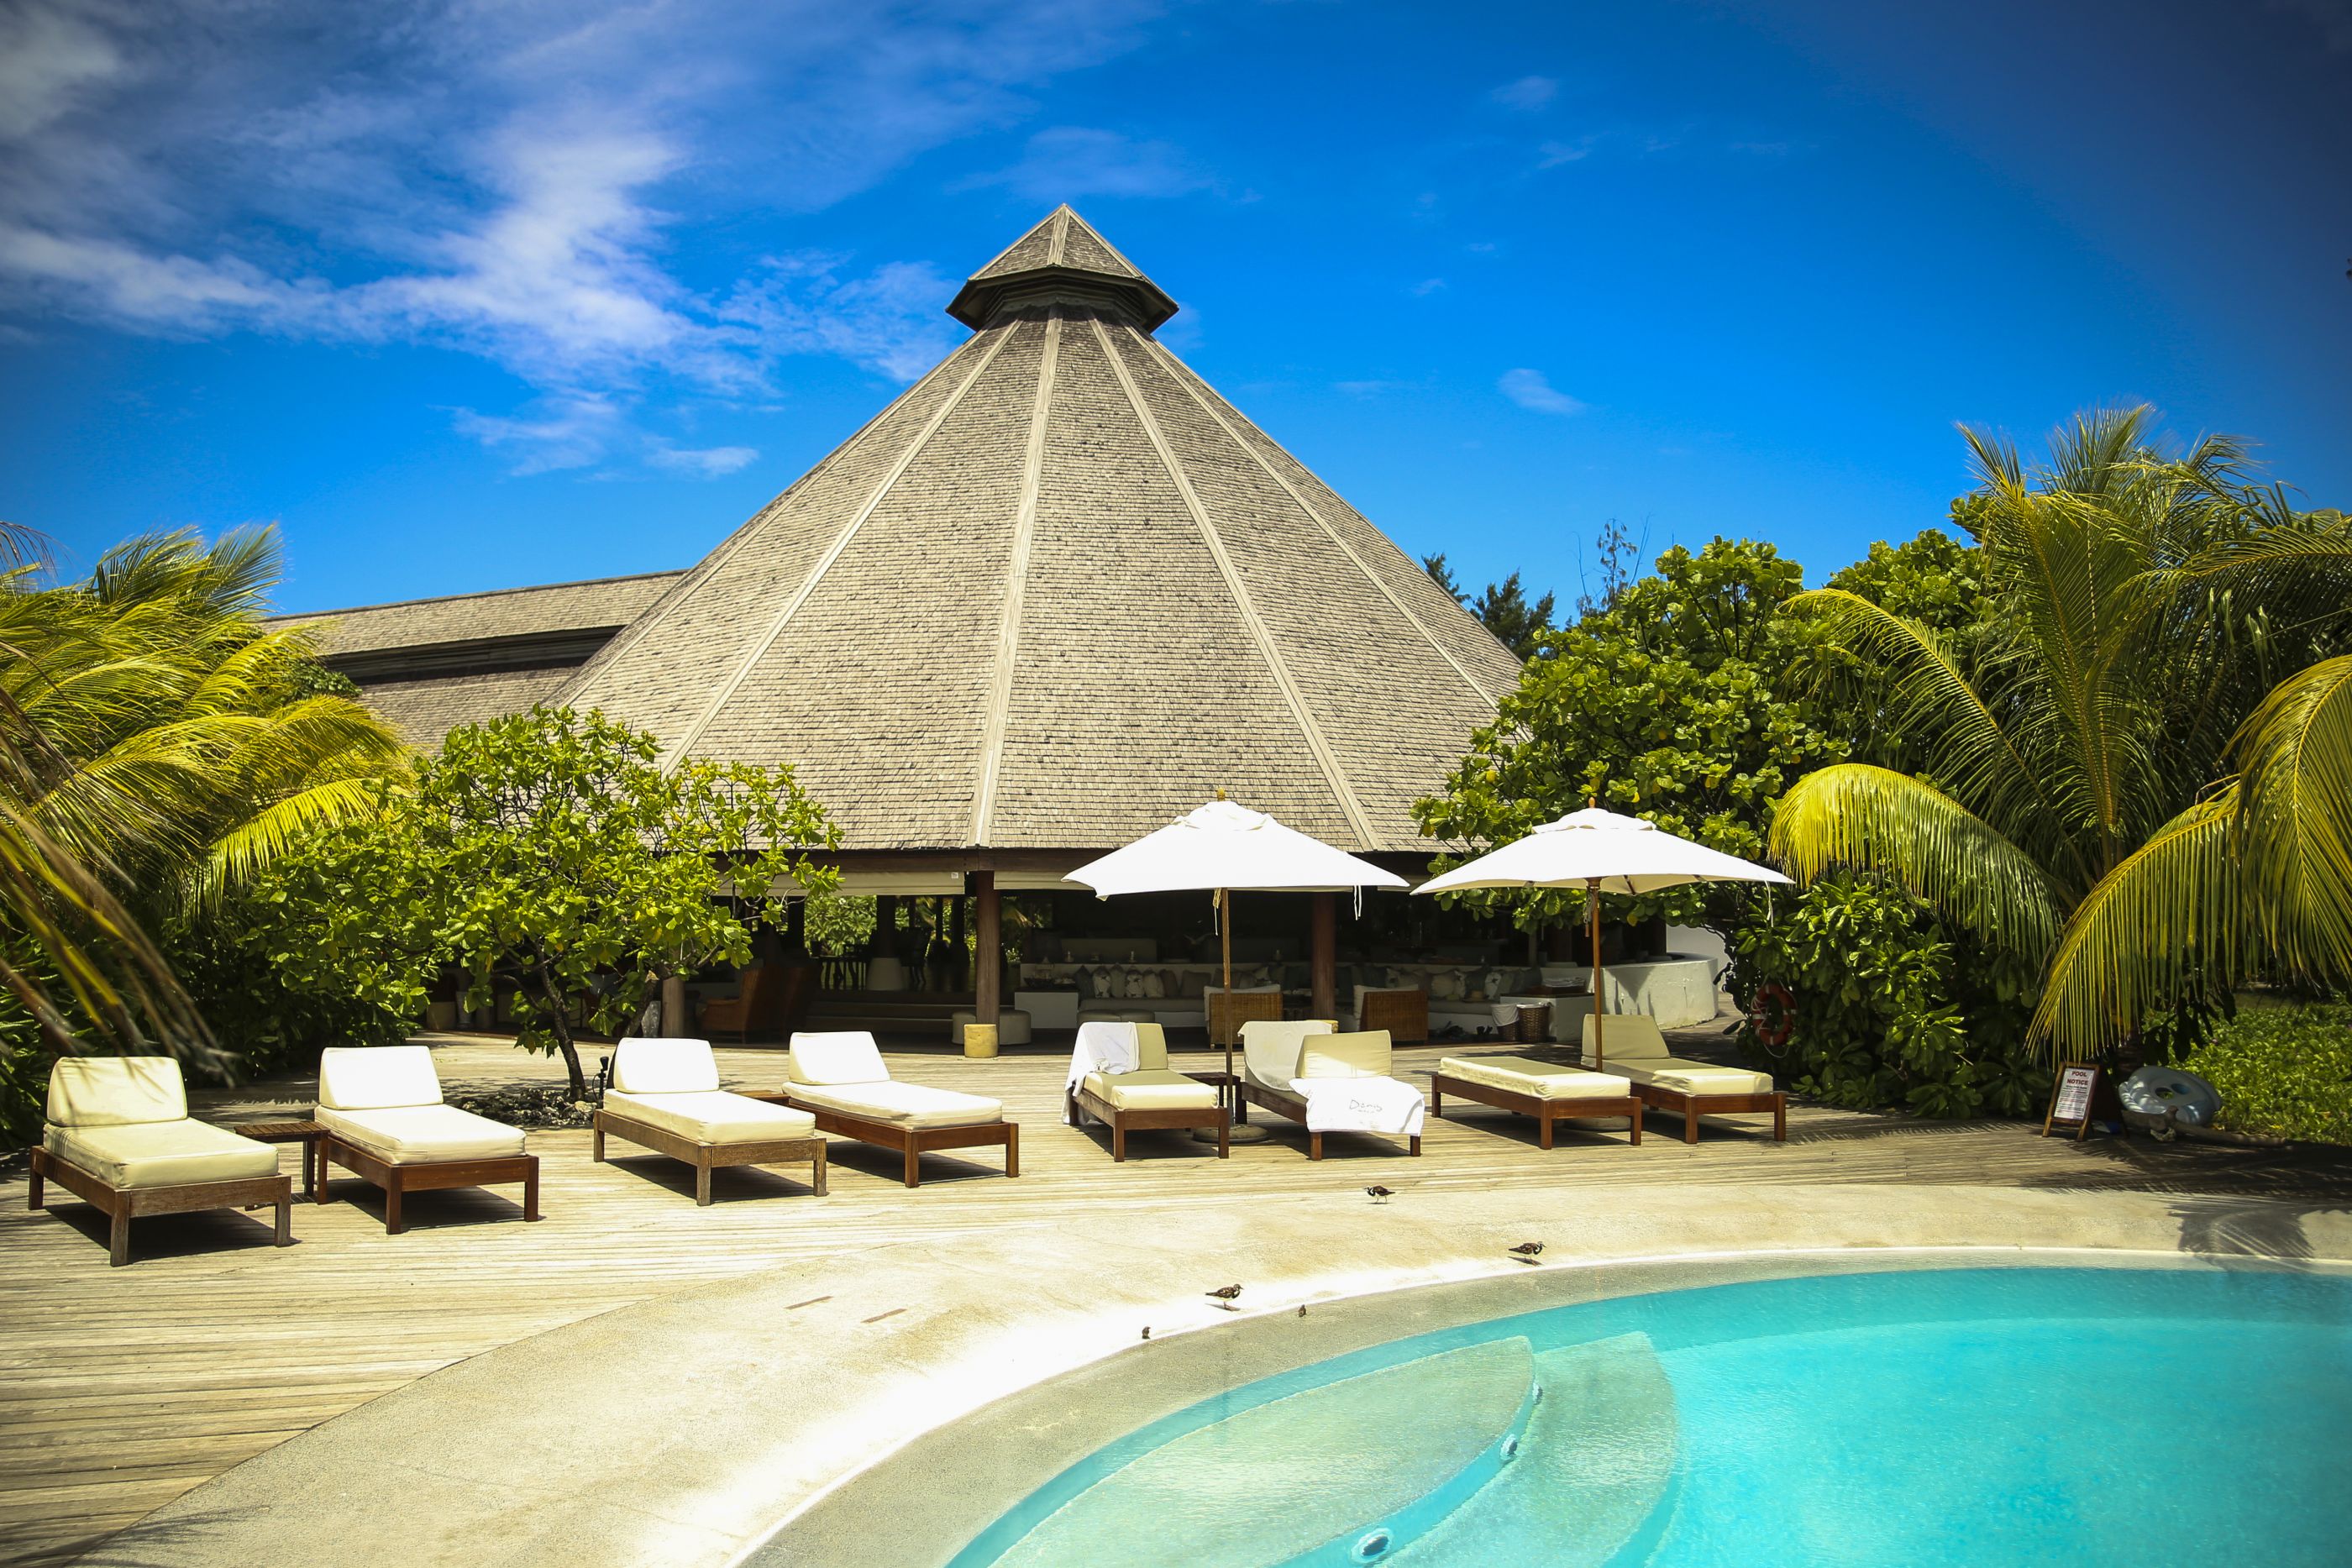
<path fill-rule="evenodd" d="M 1425 1084 L 1449 1048 L 1399 1051 Z M 1181 1053 L 1178 1065 L 1209 1065 Z M 736 1088 L 774 1088 L 781 1056 L 722 1051 Z M 0 1561 L 52 1563 L 75 1554 L 230 1465 L 452 1361 L 609 1312 L 656 1293 L 783 1260 L 969 1237 L 1004 1225 L 1051 1225 L 1073 1208 L 1124 1206 L 1148 1222 L 1162 1206 L 1249 1204 L 1385 1182 L 1399 1192 L 1578 1182 L 1978 1182 L 2136 1187 L 2249 1199 L 2352 1201 L 2352 1154 L 2037 1138 L 2020 1124 L 1917 1124 L 1799 1107 L 1790 1140 L 1752 1128 L 1764 1117 L 1710 1124 L 1698 1147 L 1668 1117 L 1639 1150 L 1621 1133 L 1562 1131 L 1550 1154 L 1534 1124 L 1484 1107 L 1432 1119 L 1425 1154 L 1334 1135 L 1308 1164 L 1303 1133 L 1235 1145 L 1232 1159 L 1178 1133 L 1138 1133 L 1124 1166 L 1101 1135 L 1061 1126 L 1065 1056 L 1035 1051 L 967 1063 L 938 1048 L 891 1051 L 901 1077 L 1007 1103 L 1023 1124 L 1021 1180 L 983 1159 L 927 1157 L 924 1185 L 898 1185 L 882 1150 L 833 1140 L 833 1192 L 807 1194 L 790 1168 L 724 1171 L 717 1201 L 694 1206 L 687 1166 L 621 1150 L 588 1161 L 588 1133 L 534 1133 L 546 1220 L 522 1225 L 503 1192 L 409 1199 L 409 1234 L 386 1237 L 381 1197 L 350 1178 L 336 1201 L 296 1206 L 296 1246 L 268 1246 L 259 1215 L 141 1220 L 134 1262 L 106 1267 L 103 1225 L 71 1197 L 47 1215 L 24 1206 L 24 1173 L 0 1182 Z M 553 1077 L 553 1063 L 499 1044 L 449 1044 L 452 1088 Z M 303 1110 L 308 1084 L 200 1095 L 221 1121 Z M 1256 1117 L 1263 1119 L 1263 1112 Z M 1282 1124 L 1277 1124 L 1282 1126 Z M 294 1168 L 294 1150 L 282 1150 Z M 1602 1199 L 1604 1201 L 1604 1199 Z M 2256 1246 L 2274 1222 L 2246 1204 Z"/>

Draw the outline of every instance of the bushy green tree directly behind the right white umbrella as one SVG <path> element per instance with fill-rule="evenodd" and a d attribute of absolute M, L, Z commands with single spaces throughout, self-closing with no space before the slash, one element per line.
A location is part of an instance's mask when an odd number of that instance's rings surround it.
<path fill-rule="evenodd" d="M 1778 670 L 1802 632 L 1773 611 L 1802 588 L 1795 562 L 1764 543 L 1717 538 L 1675 548 L 1658 574 L 1625 585 L 1611 609 L 1545 632 L 1496 722 L 1470 738 L 1444 792 L 1414 806 L 1437 839 L 1496 846 L 1597 797 L 1668 832 L 1757 858 L 1771 802 L 1797 776 L 1842 755 Z M 1437 865 L 1456 865 L 1439 858 Z M 1731 919 L 1750 896 L 1670 889 L 1625 900 L 1628 919 Z M 1461 893 L 1475 910 L 1512 910 L 1522 926 L 1583 910 L 1583 893 Z"/>

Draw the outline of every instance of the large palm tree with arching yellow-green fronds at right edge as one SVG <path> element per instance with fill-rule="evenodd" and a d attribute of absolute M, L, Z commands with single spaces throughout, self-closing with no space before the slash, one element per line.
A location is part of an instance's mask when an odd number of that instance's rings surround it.
<path fill-rule="evenodd" d="M 1893 877 L 2042 971 L 2032 1034 L 2096 1053 L 2267 973 L 2352 978 L 2352 531 L 2096 411 L 2049 461 L 1969 433 L 1959 515 L 1999 607 L 1962 649 L 1842 590 L 1790 602 L 1867 672 L 1922 764 L 1846 762 L 1780 799 L 1799 877 Z"/>

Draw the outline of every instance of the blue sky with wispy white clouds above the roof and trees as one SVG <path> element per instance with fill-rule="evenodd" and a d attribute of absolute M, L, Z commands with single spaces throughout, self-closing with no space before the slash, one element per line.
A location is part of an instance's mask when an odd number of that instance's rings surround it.
<path fill-rule="evenodd" d="M 0 9 L 0 515 L 289 609 L 691 564 L 1070 200 L 1414 552 L 1818 581 L 1955 421 L 2352 503 L 2352 0 Z"/>

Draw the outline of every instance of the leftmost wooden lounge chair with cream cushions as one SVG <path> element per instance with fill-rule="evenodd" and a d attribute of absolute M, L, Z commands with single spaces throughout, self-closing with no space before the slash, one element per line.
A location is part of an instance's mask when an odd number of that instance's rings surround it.
<path fill-rule="evenodd" d="M 56 1182 L 106 1215 L 106 1262 L 132 1260 L 132 1220 L 200 1208 L 278 1208 L 294 1244 L 294 1178 L 278 1150 L 193 1121 L 169 1056 L 66 1056 L 49 1070 L 47 1128 L 33 1150 L 31 1208 Z"/>

